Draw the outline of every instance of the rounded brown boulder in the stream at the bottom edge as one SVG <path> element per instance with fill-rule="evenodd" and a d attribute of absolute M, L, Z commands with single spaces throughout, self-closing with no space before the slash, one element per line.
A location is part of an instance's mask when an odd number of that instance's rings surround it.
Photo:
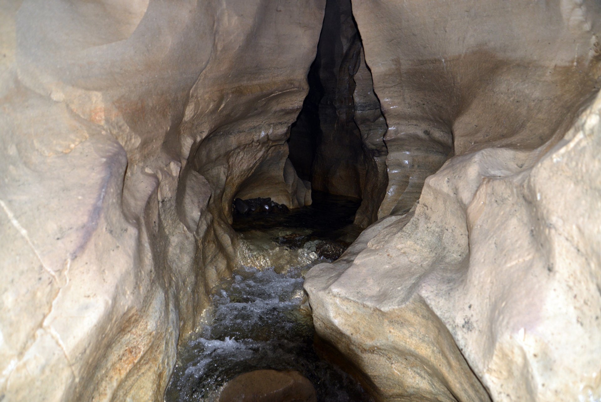
<path fill-rule="evenodd" d="M 316 402 L 315 388 L 298 371 L 256 370 L 230 380 L 219 402 Z"/>

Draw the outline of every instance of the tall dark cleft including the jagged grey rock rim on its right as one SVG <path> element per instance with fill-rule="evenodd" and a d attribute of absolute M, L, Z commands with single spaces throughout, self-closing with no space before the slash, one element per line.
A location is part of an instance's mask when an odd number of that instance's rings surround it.
<path fill-rule="evenodd" d="M 350 0 L 326 3 L 309 91 L 290 129 L 288 158 L 313 191 L 361 200 L 355 223 L 377 220 L 386 190 L 386 123 L 373 93 Z"/>

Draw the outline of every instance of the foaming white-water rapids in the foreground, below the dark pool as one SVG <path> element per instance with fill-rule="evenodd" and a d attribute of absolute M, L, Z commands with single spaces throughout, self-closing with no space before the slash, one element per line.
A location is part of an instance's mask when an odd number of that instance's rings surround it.
<path fill-rule="evenodd" d="M 301 268 L 241 268 L 213 296 L 212 322 L 188 343 L 165 395 L 167 402 L 213 400 L 225 382 L 247 371 L 297 370 L 319 400 L 369 400 L 346 373 L 317 357 L 313 324 L 301 309 Z"/>

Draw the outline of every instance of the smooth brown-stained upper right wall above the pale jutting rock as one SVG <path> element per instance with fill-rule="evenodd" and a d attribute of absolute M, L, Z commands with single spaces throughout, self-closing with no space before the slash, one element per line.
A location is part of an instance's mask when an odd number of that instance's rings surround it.
<path fill-rule="evenodd" d="M 599 86 L 596 1 L 353 2 L 388 124 L 379 217 L 452 155 L 561 138 Z"/>

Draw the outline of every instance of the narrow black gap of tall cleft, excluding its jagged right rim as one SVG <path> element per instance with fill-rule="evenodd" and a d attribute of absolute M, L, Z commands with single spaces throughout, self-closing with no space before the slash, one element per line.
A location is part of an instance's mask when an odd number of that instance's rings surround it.
<path fill-rule="evenodd" d="M 354 120 L 353 78 L 360 53 L 350 1 L 327 2 L 316 58 L 307 76 L 309 92 L 288 140 L 288 157 L 313 190 L 358 199 L 368 157 Z"/>

